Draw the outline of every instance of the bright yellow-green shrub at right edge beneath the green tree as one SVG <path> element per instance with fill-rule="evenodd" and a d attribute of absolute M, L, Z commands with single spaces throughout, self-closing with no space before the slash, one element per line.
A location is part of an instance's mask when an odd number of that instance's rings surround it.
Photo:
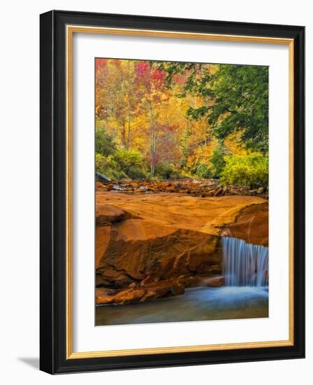
<path fill-rule="evenodd" d="M 231 155 L 226 156 L 225 160 L 226 165 L 221 172 L 222 184 L 268 187 L 268 154 Z"/>

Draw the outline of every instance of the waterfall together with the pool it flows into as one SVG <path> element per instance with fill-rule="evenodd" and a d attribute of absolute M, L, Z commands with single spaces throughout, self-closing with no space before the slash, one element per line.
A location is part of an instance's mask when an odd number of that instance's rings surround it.
<path fill-rule="evenodd" d="M 189 288 L 184 295 L 150 302 L 96 307 L 96 325 L 268 317 L 268 248 L 222 239 L 220 288 Z"/>

